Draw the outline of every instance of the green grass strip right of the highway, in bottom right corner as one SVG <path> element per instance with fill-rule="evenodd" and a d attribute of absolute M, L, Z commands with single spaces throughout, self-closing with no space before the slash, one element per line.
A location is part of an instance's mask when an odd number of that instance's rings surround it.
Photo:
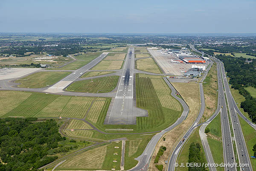
<path fill-rule="evenodd" d="M 249 125 L 247 122 L 244 121 L 240 116 L 238 116 L 240 125 L 244 134 L 244 140 L 246 143 L 247 151 L 250 156 L 253 156 L 254 151 L 253 145 L 256 143 L 256 131 Z M 252 164 L 253 171 L 256 171 L 256 159 L 250 159 Z"/>

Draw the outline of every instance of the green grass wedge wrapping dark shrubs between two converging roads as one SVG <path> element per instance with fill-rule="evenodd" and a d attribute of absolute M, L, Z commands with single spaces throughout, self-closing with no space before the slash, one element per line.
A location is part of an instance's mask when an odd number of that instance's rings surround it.
<path fill-rule="evenodd" d="M 189 137 L 189 139 L 186 140 L 186 144 L 183 145 L 183 149 L 182 149 L 182 151 L 180 151 L 180 154 L 177 157 L 177 163 L 179 163 L 179 165 L 181 163 L 184 163 L 184 165 L 186 165 L 186 163 L 189 161 L 189 146 L 191 145 L 192 142 L 199 143 L 199 145 L 201 147 L 201 158 L 204 161 L 204 163 L 207 163 L 207 160 L 206 160 L 206 157 L 204 154 L 204 148 L 201 143 L 201 139 L 200 139 L 198 131 L 199 131 L 199 128 L 196 128 L 195 131 Z M 178 171 L 187 171 L 188 168 L 187 167 L 177 167 L 177 170 Z"/>

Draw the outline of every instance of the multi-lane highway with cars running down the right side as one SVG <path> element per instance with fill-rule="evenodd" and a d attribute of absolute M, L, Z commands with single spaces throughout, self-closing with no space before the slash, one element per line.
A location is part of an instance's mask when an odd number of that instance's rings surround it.
<path fill-rule="evenodd" d="M 192 46 L 192 47 L 194 47 L 194 46 Z M 193 50 L 197 51 L 195 48 Z M 212 58 L 214 58 L 214 57 L 212 57 Z M 218 75 L 219 75 L 219 72 L 221 72 L 221 78 L 218 76 L 218 81 L 223 81 L 223 84 L 224 84 L 224 88 L 219 87 L 219 92 L 221 92 L 221 96 L 222 96 L 221 97 L 221 105 L 223 105 L 223 108 L 221 110 L 221 126 L 222 126 L 222 139 L 223 139 L 223 149 L 224 149 L 224 151 L 223 151 L 223 153 L 224 153 L 224 162 L 225 163 L 235 162 L 234 160 L 236 159 L 236 156 L 234 155 L 234 153 L 232 153 L 232 151 L 233 151 L 232 144 L 233 144 L 233 145 L 236 145 L 236 151 L 237 151 L 237 156 L 238 156 L 238 159 L 239 159 L 239 163 L 249 165 L 249 167 L 241 167 L 240 170 L 253 171 L 251 163 L 250 163 L 250 157 L 249 157 L 249 154 L 248 154 L 248 151 L 247 151 L 247 147 L 246 147 L 246 144 L 245 144 L 244 136 L 243 136 L 243 133 L 242 133 L 242 130 L 241 130 L 241 125 L 240 125 L 237 113 L 239 113 L 239 115 L 249 125 L 251 125 L 252 128 L 254 128 L 254 129 L 256 129 L 255 124 L 250 122 L 244 115 L 242 115 L 242 113 L 238 109 L 238 107 L 235 103 L 235 100 L 233 99 L 233 96 L 230 92 L 229 83 L 227 81 L 224 65 L 217 58 L 214 58 L 214 59 L 217 61 L 217 64 L 218 64 L 217 65 Z M 228 103 L 228 108 L 229 108 L 229 112 L 230 112 L 230 120 L 229 120 L 229 117 L 227 116 L 227 112 L 226 112 L 227 109 L 225 109 L 226 108 L 226 103 L 224 104 L 224 102 L 225 102 L 224 90 L 225 90 L 227 103 Z M 230 130 L 229 122 L 231 122 L 231 124 L 232 124 L 233 130 L 231 130 L 231 131 L 233 132 L 236 144 L 234 144 L 234 141 L 232 143 L 232 140 L 229 137 L 227 137 L 227 136 L 230 135 L 230 133 L 227 134 L 227 132 L 229 132 L 229 130 Z M 232 147 L 232 149 L 230 149 L 230 147 Z M 232 169 L 236 170 L 236 168 L 226 168 L 226 170 L 229 170 L 229 171 L 231 171 Z"/>

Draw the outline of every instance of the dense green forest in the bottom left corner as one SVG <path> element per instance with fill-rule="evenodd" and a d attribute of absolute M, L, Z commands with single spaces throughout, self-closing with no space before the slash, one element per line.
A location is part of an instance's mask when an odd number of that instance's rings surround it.
<path fill-rule="evenodd" d="M 0 119 L 0 171 L 35 171 L 58 157 L 48 155 L 63 141 L 55 120 Z"/>

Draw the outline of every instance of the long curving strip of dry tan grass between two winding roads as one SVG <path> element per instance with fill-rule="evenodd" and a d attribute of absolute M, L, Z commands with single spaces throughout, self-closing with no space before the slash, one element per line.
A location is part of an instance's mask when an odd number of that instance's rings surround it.
<path fill-rule="evenodd" d="M 145 76 L 145 75 L 141 75 L 141 76 Z M 173 129 L 172 131 L 170 131 L 164 136 L 166 138 L 166 141 L 160 141 L 157 144 L 148 168 L 149 171 L 158 171 L 157 168 L 155 167 L 154 159 L 157 156 L 157 151 L 159 150 L 161 145 L 167 147 L 167 149 L 166 149 L 166 152 L 163 154 L 163 156 L 160 157 L 158 164 L 163 164 L 164 167 L 166 167 L 166 165 L 164 164 L 164 160 L 168 159 L 169 154 L 172 153 L 173 149 L 175 148 L 175 145 L 180 142 L 180 139 L 183 136 L 184 130 L 187 130 L 192 125 L 192 123 L 195 121 L 195 118 L 198 115 L 198 112 L 200 110 L 199 84 L 172 83 L 172 85 L 180 93 L 184 101 L 186 101 L 186 103 L 188 104 L 189 114 L 179 126 L 177 126 L 175 129 Z M 191 89 L 193 89 L 194 91 L 190 91 Z M 164 169 L 165 168 L 163 168 L 163 170 Z"/>

